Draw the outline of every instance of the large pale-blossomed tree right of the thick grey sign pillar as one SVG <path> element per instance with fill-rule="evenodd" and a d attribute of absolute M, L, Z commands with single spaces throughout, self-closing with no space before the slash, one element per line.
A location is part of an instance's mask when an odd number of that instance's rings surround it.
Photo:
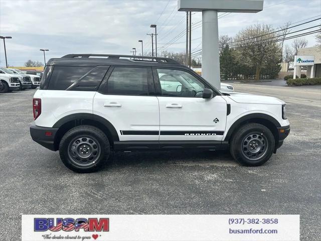
<path fill-rule="evenodd" d="M 243 63 L 255 68 L 255 79 L 260 78 L 262 68 L 267 67 L 269 61 L 279 62 L 281 59 L 281 46 L 276 40 L 270 25 L 252 25 L 241 30 L 234 39 L 232 47 L 239 49 Z"/>

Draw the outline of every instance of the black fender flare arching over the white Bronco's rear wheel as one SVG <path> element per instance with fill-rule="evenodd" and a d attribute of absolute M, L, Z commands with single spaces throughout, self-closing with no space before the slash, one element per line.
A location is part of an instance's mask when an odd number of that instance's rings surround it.
<path fill-rule="evenodd" d="M 109 130 L 109 132 L 112 135 L 113 141 L 119 141 L 119 137 L 118 137 L 115 127 L 109 121 L 107 121 L 107 119 L 105 119 L 104 117 L 101 117 L 97 114 L 91 114 L 91 113 L 69 114 L 69 115 L 66 115 L 66 116 L 62 117 L 61 119 L 59 119 L 59 121 L 57 121 L 54 124 L 53 128 L 60 128 L 62 125 L 66 124 L 70 121 L 75 121 L 76 119 L 91 119 L 93 121 L 99 122 L 100 124 L 104 125 Z"/>

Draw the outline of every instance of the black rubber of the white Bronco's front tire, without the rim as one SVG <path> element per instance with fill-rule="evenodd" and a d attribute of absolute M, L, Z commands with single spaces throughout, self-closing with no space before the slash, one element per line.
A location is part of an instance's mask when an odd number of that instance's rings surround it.
<path fill-rule="evenodd" d="M 241 148 L 241 144 L 242 144 L 242 141 L 244 140 L 244 138 L 253 132 L 262 133 L 268 142 L 268 147 L 267 147 L 267 151 L 265 152 L 265 154 L 263 156 L 261 156 L 258 160 L 255 160 L 255 161 L 248 159 L 244 155 L 242 148 Z M 253 125 L 248 125 L 248 126 L 245 126 L 244 128 L 241 128 L 240 131 L 235 135 L 231 152 L 234 152 L 233 156 L 235 156 L 237 161 L 239 161 L 243 165 L 260 166 L 263 163 L 265 163 L 267 160 L 270 159 L 270 157 L 273 154 L 274 147 L 275 147 L 275 140 L 274 140 L 274 136 L 271 133 L 271 131 L 263 125 L 253 124 Z"/>

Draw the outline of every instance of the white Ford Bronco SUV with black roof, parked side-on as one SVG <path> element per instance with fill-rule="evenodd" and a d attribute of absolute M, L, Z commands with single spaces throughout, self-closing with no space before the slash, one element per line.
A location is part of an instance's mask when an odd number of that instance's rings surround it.
<path fill-rule="evenodd" d="M 290 131 L 285 103 L 222 94 L 168 58 L 70 54 L 50 59 L 33 99 L 34 141 L 77 172 L 111 151 L 230 149 L 243 165 L 265 163 Z"/>

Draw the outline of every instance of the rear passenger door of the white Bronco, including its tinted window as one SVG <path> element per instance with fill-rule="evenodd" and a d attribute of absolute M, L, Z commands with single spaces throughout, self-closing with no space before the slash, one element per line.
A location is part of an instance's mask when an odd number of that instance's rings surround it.
<path fill-rule="evenodd" d="M 151 68 L 111 67 L 95 94 L 93 113 L 115 127 L 119 141 L 158 141 L 159 107 Z"/>

